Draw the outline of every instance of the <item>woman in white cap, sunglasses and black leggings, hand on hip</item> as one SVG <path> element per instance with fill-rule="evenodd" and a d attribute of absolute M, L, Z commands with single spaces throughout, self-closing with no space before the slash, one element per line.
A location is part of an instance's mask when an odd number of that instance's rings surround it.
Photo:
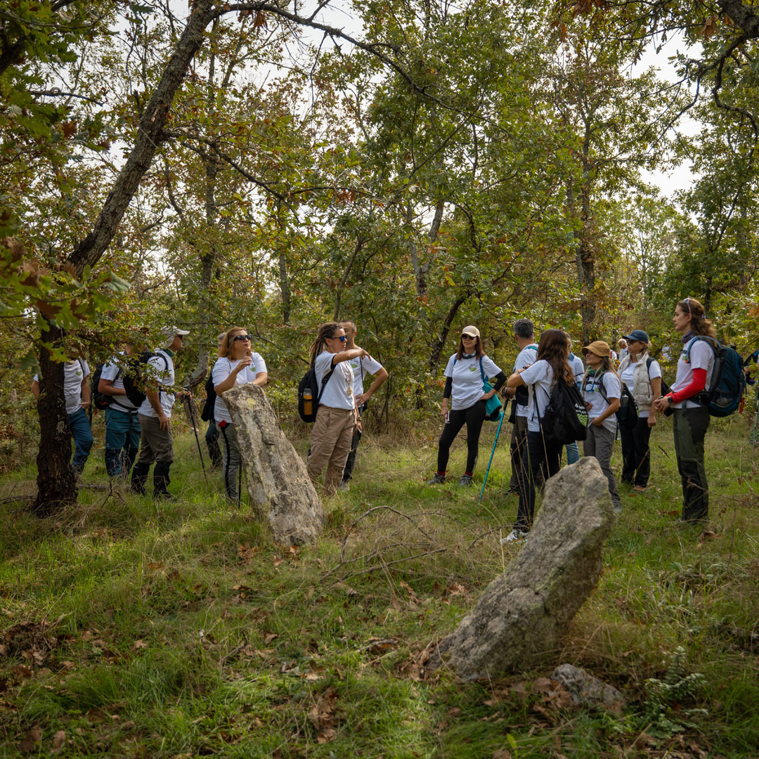
<path fill-rule="evenodd" d="M 480 451 L 480 430 L 485 420 L 485 401 L 492 398 L 506 381 L 502 370 L 487 357 L 482 348 L 480 330 L 467 326 L 461 330 L 458 350 L 453 354 L 443 373 L 446 387 L 442 391 L 440 413 L 446 419 L 437 449 L 437 471 L 428 484 L 437 485 L 446 481 L 446 468 L 451 444 L 458 430 L 467 425 L 467 468 L 458 484 L 472 483 L 477 453 Z M 495 386 L 489 392 L 483 390 L 483 376 L 495 377 Z M 448 399 L 451 398 L 451 411 Z"/>

